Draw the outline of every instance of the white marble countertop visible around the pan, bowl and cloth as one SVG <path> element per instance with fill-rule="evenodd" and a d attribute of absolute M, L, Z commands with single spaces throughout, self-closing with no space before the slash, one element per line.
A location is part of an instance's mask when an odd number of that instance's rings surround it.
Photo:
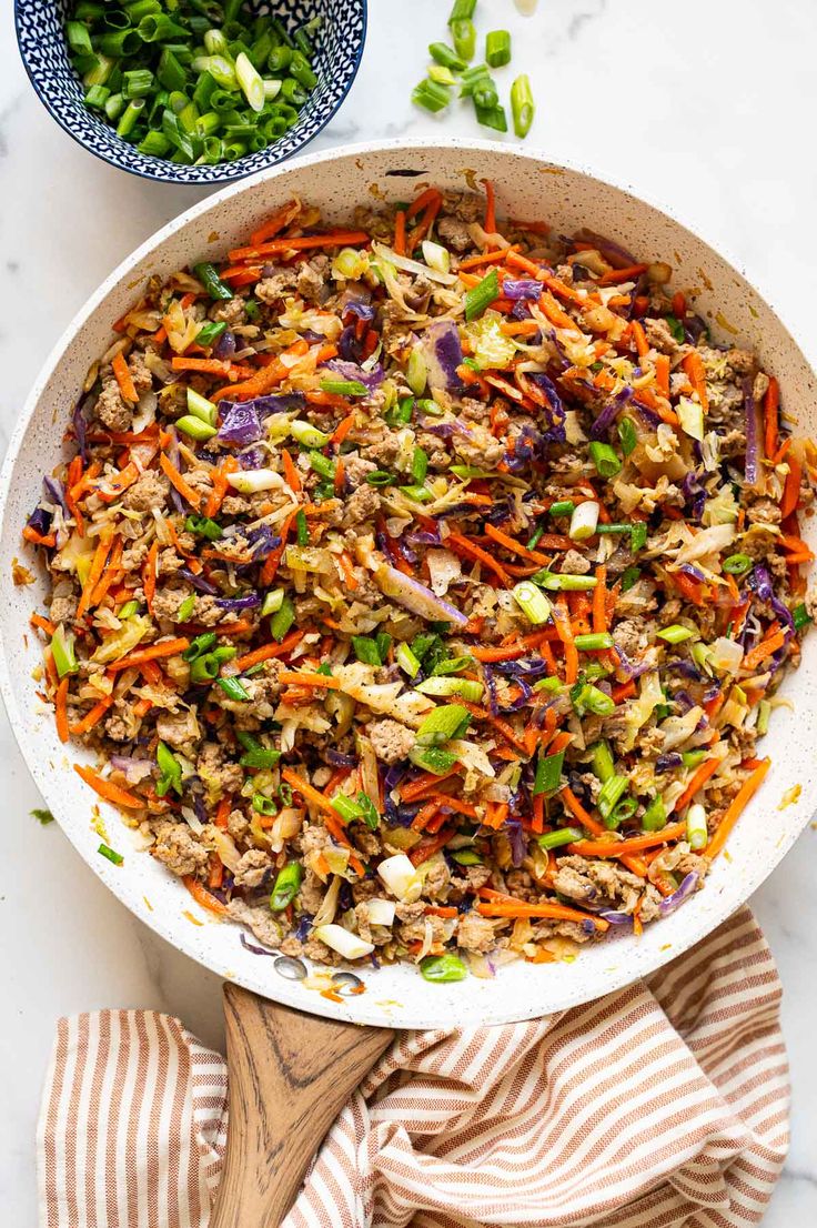
<path fill-rule="evenodd" d="M 197 189 L 144 183 L 96 161 L 50 120 L 18 63 L 10 0 L 0 16 L 0 447 L 33 376 L 102 278 Z M 376 136 L 479 135 L 462 109 L 445 122 L 408 96 L 426 42 L 444 37 L 448 0 L 370 0 L 364 64 L 316 146 Z M 522 7 L 522 5 L 520 5 Z M 531 146 L 629 182 L 754 274 L 811 357 L 817 259 L 810 242 L 817 162 L 813 0 L 480 0 L 483 29 L 509 27 L 514 70 L 534 82 Z M 517 69 L 518 66 L 518 69 Z M 510 77 L 510 70 L 504 74 Z M 817 736 L 817 733 L 816 733 Z M 33 1228 L 33 1130 L 59 1014 L 106 1006 L 179 1014 L 222 1040 L 216 977 L 145 930 L 88 874 L 38 804 L 0 715 L 5 804 L 0 950 L 0 1207 L 2 1224 Z M 817 901 L 808 830 L 754 899 L 785 987 L 794 1084 L 789 1164 L 764 1228 L 817 1222 Z M 151 1226 L 152 1228 L 152 1226 Z"/>

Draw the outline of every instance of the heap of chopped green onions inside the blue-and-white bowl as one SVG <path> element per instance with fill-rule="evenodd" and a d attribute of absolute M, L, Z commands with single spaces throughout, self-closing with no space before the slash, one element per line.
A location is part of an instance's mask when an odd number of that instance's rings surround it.
<path fill-rule="evenodd" d="M 65 41 L 85 104 L 118 136 L 149 157 L 213 166 L 259 152 L 296 123 L 318 81 L 319 26 L 290 34 L 242 0 L 76 0 Z"/>

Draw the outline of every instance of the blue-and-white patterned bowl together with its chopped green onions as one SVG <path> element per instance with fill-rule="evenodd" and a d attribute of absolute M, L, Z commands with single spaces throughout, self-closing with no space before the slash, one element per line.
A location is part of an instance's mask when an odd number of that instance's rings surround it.
<path fill-rule="evenodd" d="M 366 0 L 16 0 L 43 106 L 91 154 L 166 183 L 283 162 L 358 72 Z"/>

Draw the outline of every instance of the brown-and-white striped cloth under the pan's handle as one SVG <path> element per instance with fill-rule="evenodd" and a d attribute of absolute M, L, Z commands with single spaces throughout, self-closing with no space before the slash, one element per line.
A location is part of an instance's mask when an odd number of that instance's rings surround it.
<path fill-rule="evenodd" d="M 780 982 L 748 909 L 646 981 L 530 1023 L 404 1032 L 286 1228 L 745 1228 L 788 1144 Z M 42 1228 L 205 1228 L 227 1072 L 177 1019 L 61 1019 Z"/>

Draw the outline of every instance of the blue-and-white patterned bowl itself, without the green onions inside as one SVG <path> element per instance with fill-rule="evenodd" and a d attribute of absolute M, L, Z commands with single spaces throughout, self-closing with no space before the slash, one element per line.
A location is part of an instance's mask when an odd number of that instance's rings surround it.
<path fill-rule="evenodd" d="M 324 128 L 351 88 L 366 38 L 366 0 L 248 0 L 257 12 L 275 15 L 289 29 L 312 17 L 323 18 L 316 36 L 313 61 L 318 84 L 297 123 L 259 154 L 217 166 L 178 166 L 140 154 L 117 136 L 113 128 L 87 109 L 82 86 L 74 72 L 63 23 L 71 0 L 15 0 L 17 42 L 26 71 L 43 106 L 69 136 L 91 154 L 122 171 L 163 183 L 229 183 L 264 171 L 297 154 Z"/>

